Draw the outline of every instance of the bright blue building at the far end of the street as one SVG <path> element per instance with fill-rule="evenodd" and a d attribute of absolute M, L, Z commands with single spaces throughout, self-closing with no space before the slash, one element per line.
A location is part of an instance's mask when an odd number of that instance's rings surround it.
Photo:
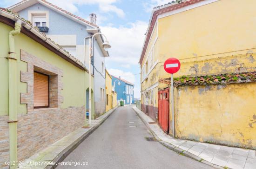
<path fill-rule="evenodd" d="M 134 104 L 134 84 L 122 79 L 112 76 L 112 86 L 117 93 L 117 102 L 124 101 L 124 104 Z M 120 85 L 118 85 L 120 84 Z"/>

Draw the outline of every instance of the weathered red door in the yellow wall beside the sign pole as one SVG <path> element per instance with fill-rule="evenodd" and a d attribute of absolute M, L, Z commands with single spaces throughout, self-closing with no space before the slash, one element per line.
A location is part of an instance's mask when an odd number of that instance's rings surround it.
<path fill-rule="evenodd" d="M 169 129 L 169 89 L 158 91 L 158 121 L 164 132 Z"/>

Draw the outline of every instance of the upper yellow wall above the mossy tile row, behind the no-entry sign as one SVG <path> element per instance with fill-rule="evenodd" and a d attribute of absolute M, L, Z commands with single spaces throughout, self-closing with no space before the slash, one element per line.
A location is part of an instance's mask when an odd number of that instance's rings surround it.
<path fill-rule="evenodd" d="M 161 65 L 170 57 L 180 59 L 175 76 L 195 74 L 193 66 L 203 75 L 255 69 L 250 59 L 256 48 L 255 6 L 255 0 L 220 0 L 159 19 Z M 160 78 L 169 77 L 163 66 L 160 71 Z"/>

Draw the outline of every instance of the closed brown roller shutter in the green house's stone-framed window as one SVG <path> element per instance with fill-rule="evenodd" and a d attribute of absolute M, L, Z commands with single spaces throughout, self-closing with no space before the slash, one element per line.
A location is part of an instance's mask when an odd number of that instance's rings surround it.
<path fill-rule="evenodd" d="M 34 72 L 34 108 L 49 107 L 49 77 Z"/>

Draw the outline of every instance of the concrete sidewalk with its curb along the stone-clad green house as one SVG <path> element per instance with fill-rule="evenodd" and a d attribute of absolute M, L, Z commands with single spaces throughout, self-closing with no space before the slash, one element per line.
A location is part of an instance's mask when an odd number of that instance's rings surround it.
<path fill-rule="evenodd" d="M 23 161 L 19 169 L 54 169 L 62 162 L 84 139 L 96 130 L 118 107 L 111 109 L 102 116 L 92 120 L 89 128 L 80 128 L 64 136 L 46 149 Z"/>

